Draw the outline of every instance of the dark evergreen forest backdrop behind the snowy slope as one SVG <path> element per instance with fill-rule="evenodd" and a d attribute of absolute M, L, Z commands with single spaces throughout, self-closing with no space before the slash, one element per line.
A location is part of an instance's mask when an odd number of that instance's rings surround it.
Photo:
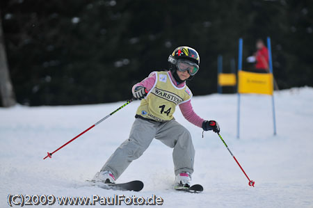
<path fill-rule="evenodd" d="M 312 1 L 1 1 L 3 32 L 17 102 L 91 104 L 131 97 L 131 86 L 168 67 L 179 45 L 200 54 L 194 95 L 216 93 L 224 70 L 272 40 L 280 88 L 312 86 Z M 243 67 L 250 67 L 246 63 Z"/>

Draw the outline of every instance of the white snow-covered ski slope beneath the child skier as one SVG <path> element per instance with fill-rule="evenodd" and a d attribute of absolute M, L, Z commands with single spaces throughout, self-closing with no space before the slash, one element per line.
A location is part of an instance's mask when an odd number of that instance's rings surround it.
<path fill-rule="evenodd" d="M 219 122 L 221 136 L 255 180 L 255 188 L 248 186 L 248 179 L 218 135 L 204 132 L 202 138 L 202 129 L 184 120 L 179 109 L 175 113 L 193 136 L 193 183 L 204 186 L 200 194 L 171 189 L 175 178 L 172 150 L 157 140 L 118 180 L 141 179 L 145 182 L 141 192 L 108 191 L 86 184 L 127 138 L 139 102 L 129 104 L 45 160 L 42 158 L 48 151 L 53 152 L 124 102 L 0 109 L 0 207 L 8 207 L 10 193 L 89 197 L 154 194 L 163 198 L 163 207 L 313 207 L 313 88 L 275 93 L 277 136 L 273 136 L 271 98 L 243 95 L 238 140 L 236 102 L 236 95 L 194 97 L 193 109 L 203 118 Z M 51 207 L 58 207 L 58 203 Z"/>

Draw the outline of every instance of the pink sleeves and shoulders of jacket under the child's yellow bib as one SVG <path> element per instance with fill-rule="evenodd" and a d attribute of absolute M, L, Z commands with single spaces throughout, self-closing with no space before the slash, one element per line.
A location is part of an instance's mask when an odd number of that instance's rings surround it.
<path fill-rule="evenodd" d="M 174 79 L 174 77 L 172 77 L 172 73 L 169 72 L 169 74 L 170 74 L 170 79 L 172 79 L 172 83 L 174 83 L 177 87 L 182 88 L 186 85 L 186 81 L 178 84 L 177 81 Z M 152 87 L 154 86 L 155 80 L 156 80 L 156 75 L 155 73 L 152 73 L 150 74 L 149 77 L 143 79 L 143 81 L 141 81 L 140 83 L 136 83 L 133 86 L 132 91 L 134 92 L 134 89 L 137 86 L 143 86 L 148 91 L 150 91 Z M 186 118 L 188 122 L 191 122 L 193 125 L 196 125 L 202 128 L 202 122 L 204 122 L 204 119 L 200 118 L 200 116 L 197 115 L 195 111 L 193 111 L 193 106 L 191 106 L 191 100 L 189 100 L 188 102 L 184 102 L 183 104 L 179 104 L 179 109 L 180 111 L 182 111 L 182 115 L 184 115 L 184 118 Z"/>

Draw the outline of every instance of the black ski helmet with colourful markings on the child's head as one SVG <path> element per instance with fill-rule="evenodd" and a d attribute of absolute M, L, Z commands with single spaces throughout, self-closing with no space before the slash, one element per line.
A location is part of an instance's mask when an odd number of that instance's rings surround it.
<path fill-rule="evenodd" d="M 199 69 L 200 65 L 200 56 L 198 52 L 187 46 L 183 47 L 177 47 L 170 56 L 168 56 L 168 62 L 170 63 L 170 71 L 172 72 L 173 75 L 176 75 L 177 71 L 177 62 L 179 60 L 186 60 L 186 61 L 191 61 L 191 63 L 194 63 L 196 67 Z M 198 71 L 197 71 L 198 72 Z M 195 74 L 191 75 L 188 80 L 192 79 L 192 77 Z M 175 76 L 176 78 L 177 76 Z M 179 80 L 177 80 L 179 81 Z"/>

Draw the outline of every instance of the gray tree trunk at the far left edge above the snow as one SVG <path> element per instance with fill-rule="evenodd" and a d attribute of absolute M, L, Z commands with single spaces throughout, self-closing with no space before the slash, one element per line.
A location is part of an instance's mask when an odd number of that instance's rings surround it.
<path fill-rule="evenodd" d="M 8 63 L 6 60 L 6 48 L 4 45 L 2 19 L 0 13 L 0 101 L 3 107 L 10 107 L 16 104 L 13 85 L 8 72 Z"/>

